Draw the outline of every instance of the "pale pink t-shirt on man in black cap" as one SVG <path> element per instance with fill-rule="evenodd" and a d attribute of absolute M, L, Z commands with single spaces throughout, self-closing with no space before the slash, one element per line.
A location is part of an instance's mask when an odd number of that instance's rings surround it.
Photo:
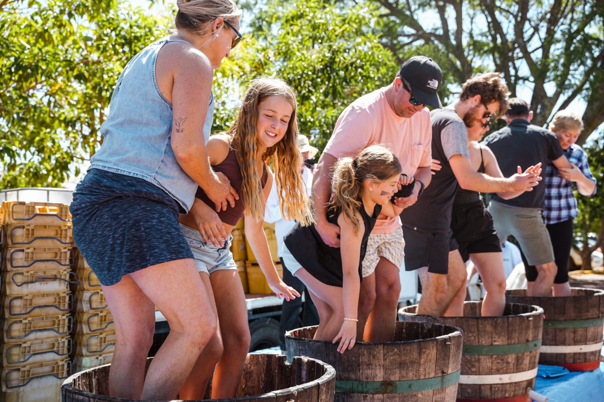
<path fill-rule="evenodd" d="M 382 144 L 399 159 L 403 173 L 413 176 L 419 167 L 432 162 L 432 124 L 427 108 L 411 118 L 402 118 L 388 105 L 387 87 L 356 99 L 336 122 L 323 152 L 336 158 L 355 157 L 369 145 Z M 392 233 L 400 218 L 380 215 L 371 233 Z"/>

